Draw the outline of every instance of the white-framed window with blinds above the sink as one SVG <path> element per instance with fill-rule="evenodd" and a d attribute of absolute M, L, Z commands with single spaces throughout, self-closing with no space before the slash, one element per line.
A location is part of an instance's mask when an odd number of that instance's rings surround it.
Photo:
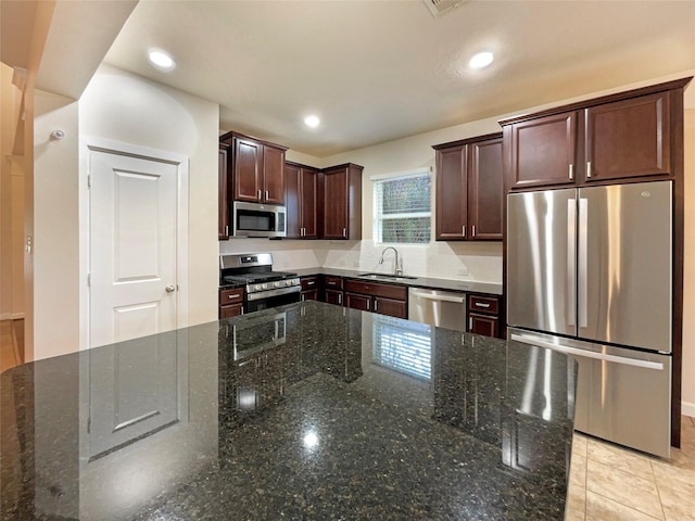
<path fill-rule="evenodd" d="M 372 180 L 375 242 L 430 242 L 432 176 L 429 169 Z"/>

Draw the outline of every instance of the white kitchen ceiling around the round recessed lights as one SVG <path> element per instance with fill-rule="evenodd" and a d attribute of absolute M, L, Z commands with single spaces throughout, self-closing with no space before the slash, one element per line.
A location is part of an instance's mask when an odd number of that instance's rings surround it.
<path fill-rule="evenodd" d="M 481 49 L 497 60 L 471 72 Z M 141 0 L 104 61 L 219 103 L 222 130 L 324 157 L 695 68 L 695 1 L 471 0 L 434 18 L 421 0 Z"/>

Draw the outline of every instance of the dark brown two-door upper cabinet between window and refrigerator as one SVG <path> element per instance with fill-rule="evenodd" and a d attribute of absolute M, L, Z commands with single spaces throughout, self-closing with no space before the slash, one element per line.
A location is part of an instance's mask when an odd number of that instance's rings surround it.
<path fill-rule="evenodd" d="M 502 135 L 437 144 L 438 241 L 501 241 L 504 177 Z"/>

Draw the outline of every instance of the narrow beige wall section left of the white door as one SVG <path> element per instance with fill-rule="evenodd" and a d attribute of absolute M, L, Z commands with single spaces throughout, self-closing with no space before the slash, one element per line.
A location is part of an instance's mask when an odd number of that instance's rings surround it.
<path fill-rule="evenodd" d="M 34 118 L 34 357 L 79 348 L 77 101 L 37 90 Z M 53 130 L 65 137 L 51 139 Z"/>

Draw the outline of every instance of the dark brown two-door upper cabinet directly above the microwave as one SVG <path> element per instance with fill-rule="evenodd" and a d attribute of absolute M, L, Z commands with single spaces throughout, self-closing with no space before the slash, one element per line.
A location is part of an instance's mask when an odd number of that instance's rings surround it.
<path fill-rule="evenodd" d="M 235 201 L 285 204 L 286 147 L 237 132 L 220 137 L 230 144 L 231 194 Z"/>

